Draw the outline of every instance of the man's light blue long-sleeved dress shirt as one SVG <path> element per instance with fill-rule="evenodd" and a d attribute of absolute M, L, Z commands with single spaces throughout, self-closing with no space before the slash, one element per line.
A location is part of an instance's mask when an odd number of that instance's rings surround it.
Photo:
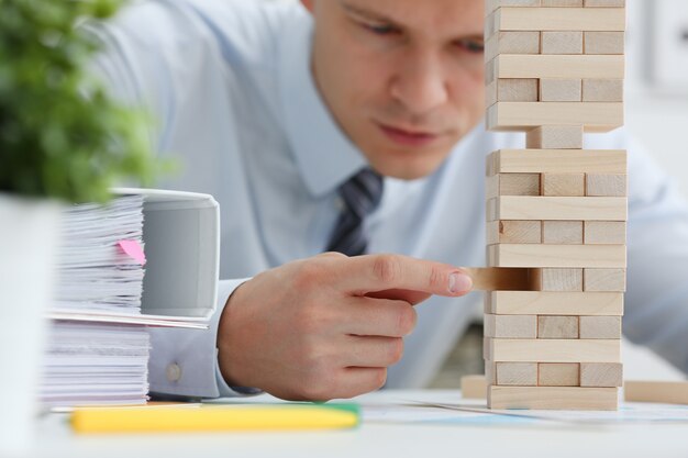
<path fill-rule="evenodd" d="M 366 165 L 337 127 L 309 70 L 312 20 L 297 2 L 143 1 L 107 26 L 96 65 L 122 100 L 156 114 L 152 144 L 181 158 L 160 187 L 207 192 L 222 209 L 218 312 L 209 332 L 156 329 L 155 392 L 234 392 L 217 367 L 217 322 L 243 279 L 321 253 L 336 222 L 337 187 Z M 485 156 L 523 147 L 518 134 L 475 129 L 432 176 L 385 179 L 366 222 L 371 253 L 485 265 Z M 623 133 L 587 147 L 630 149 L 625 335 L 688 370 L 688 212 L 676 188 Z M 288 284 L 276 286 L 289 288 Z M 388 387 L 422 387 L 476 315 L 480 297 L 431 298 Z"/>

